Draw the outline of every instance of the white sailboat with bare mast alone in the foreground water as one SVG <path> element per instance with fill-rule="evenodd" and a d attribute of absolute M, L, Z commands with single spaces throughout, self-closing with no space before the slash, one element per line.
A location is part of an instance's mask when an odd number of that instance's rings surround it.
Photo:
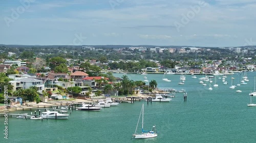
<path fill-rule="evenodd" d="M 139 121 L 140 121 L 141 114 L 142 114 L 142 132 L 139 134 L 139 133 L 137 133 L 137 128 L 138 128 L 138 125 L 139 125 Z M 141 108 L 141 111 L 140 111 L 140 117 L 139 117 L 139 120 L 138 120 L 138 123 L 137 123 L 137 127 L 136 127 L 136 130 L 135 130 L 135 133 L 133 134 L 133 136 L 134 136 L 136 139 L 138 139 L 138 138 L 157 137 L 156 126 L 153 126 L 153 127 L 152 127 L 152 130 L 150 130 L 150 131 L 144 131 L 144 130 L 143 130 L 144 104 L 142 104 L 142 108 Z"/>

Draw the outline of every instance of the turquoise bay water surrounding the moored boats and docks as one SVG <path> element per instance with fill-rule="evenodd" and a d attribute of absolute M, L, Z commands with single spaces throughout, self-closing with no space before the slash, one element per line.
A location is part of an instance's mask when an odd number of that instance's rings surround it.
<path fill-rule="evenodd" d="M 114 74 L 121 77 L 122 74 Z M 73 111 L 68 120 L 33 121 L 9 118 L 9 139 L 4 139 L 4 118 L 1 117 L 0 142 L 255 142 L 256 107 L 247 107 L 253 90 L 256 72 L 248 72 L 248 84 L 229 89 L 238 75 L 228 75 L 229 84 L 217 78 L 218 88 L 209 91 L 198 78 L 186 75 L 184 85 L 178 85 L 179 75 L 166 75 L 171 82 L 162 81 L 162 74 L 148 74 L 147 80 L 157 80 L 158 87 L 185 89 L 167 103 L 145 101 L 121 103 L 116 107 L 102 108 L 98 112 Z M 127 74 L 130 79 L 144 80 L 145 75 Z M 214 82 L 212 82 L 212 85 Z M 242 93 L 237 93 L 241 90 Z M 255 101 L 255 102 L 253 102 Z M 256 98 L 252 97 L 256 103 Z M 156 125 L 158 136 L 148 139 L 131 139 L 135 132 L 141 105 L 144 103 L 144 129 Z M 14 111 L 17 113 L 30 111 Z M 140 125 L 139 129 L 140 130 Z M 2 141 L 3 140 L 3 141 Z"/>

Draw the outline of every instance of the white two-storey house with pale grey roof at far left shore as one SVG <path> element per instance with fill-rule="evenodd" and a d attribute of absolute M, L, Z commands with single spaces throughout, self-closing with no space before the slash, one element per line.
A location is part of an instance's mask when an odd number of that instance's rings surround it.
<path fill-rule="evenodd" d="M 45 90 L 45 85 L 42 83 L 42 80 L 38 80 L 35 78 L 22 78 L 18 79 L 17 81 L 20 81 L 20 84 L 22 84 L 22 88 L 24 90 L 29 89 L 33 86 L 37 88 L 38 93 L 42 93 L 42 91 Z"/>

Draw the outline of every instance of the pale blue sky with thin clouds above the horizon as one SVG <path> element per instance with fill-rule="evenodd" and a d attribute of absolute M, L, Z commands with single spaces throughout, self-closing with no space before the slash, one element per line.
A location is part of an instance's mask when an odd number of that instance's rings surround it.
<path fill-rule="evenodd" d="M 0 44 L 256 45 L 256 0 L 0 0 Z"/>

